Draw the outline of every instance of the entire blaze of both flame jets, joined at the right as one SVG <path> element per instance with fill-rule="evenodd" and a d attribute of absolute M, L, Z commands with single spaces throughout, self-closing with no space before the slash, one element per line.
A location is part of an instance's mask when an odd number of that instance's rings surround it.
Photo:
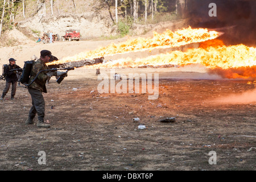
<path fill-rule="evenodd" d="M 143 59 L 119 59 L 107 61 L 104 64 L 90 65 L 89 68 L 135 68 L 145 66 L 201 64 L 209 69 L 209 73 L 217 73 L 224 78 L 256 78 L 256 48 L 243 44 L 225 46 L 216 39 L 220 34 L 208 31 L 207 28 L 183 28 L 172 32 L 166 30 L 163 34 L 154 32 L 152 38 L 128 39 L 120 44 L 110 44 L 94 51 L 82 52 L 73 57 L 54 61 L 50 64 L 62 64 L 72 61 L 94 59 L 118 53 L 138 52 L 154 48 L 170 48 L 185 44 L 200 43 L 199 48 L 187 51 L 171 51 L 165 54 L 149 56 Z"/>

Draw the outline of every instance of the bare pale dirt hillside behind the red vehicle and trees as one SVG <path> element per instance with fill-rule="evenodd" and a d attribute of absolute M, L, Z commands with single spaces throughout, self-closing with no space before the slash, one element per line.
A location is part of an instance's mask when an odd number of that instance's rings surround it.
<path fill-rule="evenodd" d="M 63 36 L 65 30 L 80 30 L 81 40 L 108 37 L 113 39 L 118 37 L 118 31 L 120 31 L 120 27 L 118 30 L 118 24 L 115 22 L 114 1 L 53 1 L 52 9 L 49 1 L 27 0 L 25 3 L 25 17 L 23 8 L 19 5 L 16 9 L 12 29 L 15 30 L 16 28 L 33 41 L 49 31 Z M 155 15 L 154 21 L 149 20 L 147 24 L 144 24 L 141 19 L 138 22 L 131 22 L 131 14 L 124 17 L 122 6 L 122 4 L 118 5 L 118 22 L 125 24 L 122 24 L 125 27 L 121 28 L 129 28 L 130 36 L 145 34 L 154 27 L 154 24 L 162 22 L 162 20 L 172 21 L 172 18 L 170 19 L 172 12 L 167 12 L 159 13 L 158 16 Z M 130 8 L 130 5 L 127 5 L 127 10 Z M 141 16 L 143 16 L 143 10 Z M 175 16 L 173 19 L 176 19 Z M 6 44 L 0 44 L 0 46 L 14 46 L 17 41 L 27 42 L 24 39 L 19 40 L 19 38 L 13 37 L 13 34 L 11 36 L 6 34 L 9 34 L 9 31 L 3 35 L 9 41 Z M 2 42 L 6 39 L 3 40 L 2 38 Z"/>

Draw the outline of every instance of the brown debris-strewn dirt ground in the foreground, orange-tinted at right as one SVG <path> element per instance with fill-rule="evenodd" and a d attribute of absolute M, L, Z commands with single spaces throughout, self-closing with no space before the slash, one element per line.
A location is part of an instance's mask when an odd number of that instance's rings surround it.
<path fill-rule="evenodd" d="M 99 82 L 70 77 L 59 85 L 52 78 L 44 94 L 49 129 L 24 124 L 31 107 L 27 89 L 18 87 L 14 101 L 9 91 L 0 102 L 0 169 L 255 170 L 256 103 L 213 102 L 253 84 L 166 78 L 159 80 L 159 98 L 148 100 L 147 93 L 99 94 Z M 159 122 L 167 117 L 176 122 Z M 45 165 L 38 163 L 39 151 L 46 152 Z M 210 151 L 217 164 L 209 164 Z"/>

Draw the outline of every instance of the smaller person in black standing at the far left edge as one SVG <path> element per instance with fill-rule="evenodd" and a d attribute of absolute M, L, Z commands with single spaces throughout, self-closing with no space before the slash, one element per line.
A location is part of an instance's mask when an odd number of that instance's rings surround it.
<path fill-rule="evenodd" d="M 18 65 L 16 65 L 16 60 L 13 58 L 9 59 L 9 65 L 6 68 L 6 85 L 5 89 L 3 90 L 3 94 L 1 96 L 1 100 L 5 98 L 7 92 L 10 89 L 11 86 L 11 100 L 14 100 L 14 96 L 16 93 L 16 85 L 18 81 L 18 77 L 16 75 L 17 71 L 10 71 L 11 69 L 21 69 Z"/>

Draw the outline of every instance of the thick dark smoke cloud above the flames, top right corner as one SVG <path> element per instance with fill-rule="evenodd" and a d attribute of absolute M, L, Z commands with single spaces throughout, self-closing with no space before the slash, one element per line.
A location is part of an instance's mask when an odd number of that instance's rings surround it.
<path fill-rule="evenodd" d="M 209 16 L 209 4 L 217 6 L 217 16 Z M 224 32 L 220 39 L 229 46 L 256 43 L 255 0 L 187 0 L 188 24 L 192 28 L 212 28 Z"/>

